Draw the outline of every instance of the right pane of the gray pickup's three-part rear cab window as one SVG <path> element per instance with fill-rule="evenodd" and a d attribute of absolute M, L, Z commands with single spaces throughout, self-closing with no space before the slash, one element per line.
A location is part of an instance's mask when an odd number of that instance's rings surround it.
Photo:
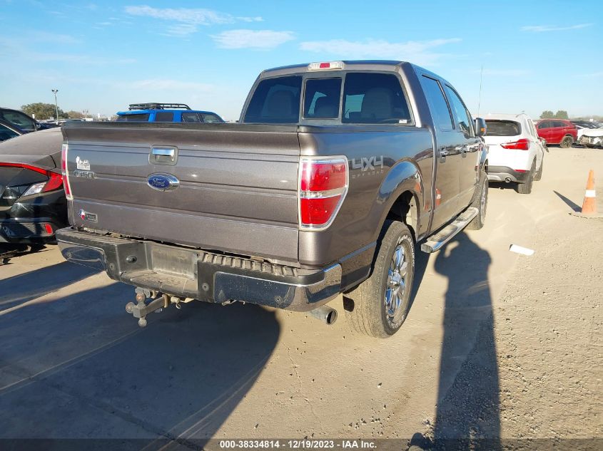
<path fill-rule="evenodd" d="M 343 123 L 407 124 L 410 109 L 391 73 L 348 73 L 343 88 Z"/>

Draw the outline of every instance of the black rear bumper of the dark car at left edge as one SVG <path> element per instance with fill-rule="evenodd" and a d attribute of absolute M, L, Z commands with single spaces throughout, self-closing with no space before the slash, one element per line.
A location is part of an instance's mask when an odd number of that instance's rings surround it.
<path fill-rule="evenodd" d="M 46 224 L 51 228 L 50 233 Z M 67 224 L 63 190 L 17 199 L 10 207 L 0 207 L 0 243 L 54 243 L 56 230 Z"/>

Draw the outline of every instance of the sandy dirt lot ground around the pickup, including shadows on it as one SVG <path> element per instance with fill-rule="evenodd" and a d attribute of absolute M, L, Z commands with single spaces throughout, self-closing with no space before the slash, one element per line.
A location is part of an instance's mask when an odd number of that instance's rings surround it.
<path fill-rule="evenodd" d="M 603 197 L 603 151 L 550 150 L 531 195 L 491 186 L 484 229 L 417 253 L 414 304 L 385 341 L 353 336 L 342 309 L 325 326 L 193 303 L 141 329 L 124 310 L 132 287 L 56 247 L 0 266 L 0 439 L 133 439 L 128 449 L 151 450 L 212 437 L 400 438 L 402 449 L 430 449 L 463 437 L 474 442 L 460 449 L 602 449 L 603 219 L 569 212 L 589 169 Z"/>

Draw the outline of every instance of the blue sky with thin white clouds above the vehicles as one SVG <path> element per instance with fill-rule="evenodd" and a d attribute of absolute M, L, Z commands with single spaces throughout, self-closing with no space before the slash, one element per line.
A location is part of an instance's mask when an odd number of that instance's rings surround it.
<path fill-rule="evenodd" d="M 237 119 L 265 68 L 400 59 L 477 113 L 603 115 L 595 1 L 0 0 L 0 105 L 113 114 L 182 102 Z"/>

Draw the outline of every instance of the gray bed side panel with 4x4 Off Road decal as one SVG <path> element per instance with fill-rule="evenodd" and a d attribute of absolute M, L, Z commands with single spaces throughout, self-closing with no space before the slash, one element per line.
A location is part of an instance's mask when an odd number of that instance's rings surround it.
<path fill-rule="evenodd" d="M 301 128 L 301 155 L 345 155 L 350 186 L 328 229 L 300 231 L 300 262 L 320 265 L 374 246 L 392 204 L 405 191 L 417 196 L 425 229 L 431 210 L 432 144 L 427 128 L 412 126 Z"/>

